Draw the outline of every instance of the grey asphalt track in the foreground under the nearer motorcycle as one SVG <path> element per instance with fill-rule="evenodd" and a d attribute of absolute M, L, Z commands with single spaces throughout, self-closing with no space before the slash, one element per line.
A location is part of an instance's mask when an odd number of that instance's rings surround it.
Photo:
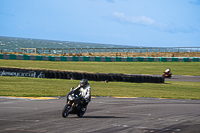
<path fill-rule="evenodd" d="M 86 114 L 62 118 L 66 99 L 0 97 L 1 133 L 199 133 L 200 100 L 92 98 Z"/>

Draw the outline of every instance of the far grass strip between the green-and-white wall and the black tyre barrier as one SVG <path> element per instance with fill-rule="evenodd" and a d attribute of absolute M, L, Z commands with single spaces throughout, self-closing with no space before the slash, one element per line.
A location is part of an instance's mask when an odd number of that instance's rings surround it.
<path fill-rule="evenodd" d="M 171 68 L 173 75 L 200 76 L 200 62 L 61 62 L 0 59 L 0 67 L 156 75 L 161 75 L 165 69 Z"/>

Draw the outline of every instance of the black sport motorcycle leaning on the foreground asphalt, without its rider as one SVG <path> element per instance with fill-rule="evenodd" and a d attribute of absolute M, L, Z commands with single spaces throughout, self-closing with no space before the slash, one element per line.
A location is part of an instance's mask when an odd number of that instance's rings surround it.
<path fill-rule="evenodd" d="M 62 111 L 63 118 L 66 118 L 69 114 L 77 114 L 78 117 L 82 117 L 86 112 L 87 107 L 83 108 L 84 101 L 79 89 L 73 89 L 74 87 L 70 89 L 66 96 L 67 102 Z"/>

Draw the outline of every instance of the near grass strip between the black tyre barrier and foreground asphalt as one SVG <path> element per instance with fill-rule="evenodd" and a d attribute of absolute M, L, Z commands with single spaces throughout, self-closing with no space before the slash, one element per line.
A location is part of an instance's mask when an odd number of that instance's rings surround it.
<path fill-rule="evenodd" d="M 125 83 L 89 81 L 92 96 L 200 99 L 200 82 Z M 0 95 L 19 97 L 65 96 L 79 80 L 0 76 Z"/>

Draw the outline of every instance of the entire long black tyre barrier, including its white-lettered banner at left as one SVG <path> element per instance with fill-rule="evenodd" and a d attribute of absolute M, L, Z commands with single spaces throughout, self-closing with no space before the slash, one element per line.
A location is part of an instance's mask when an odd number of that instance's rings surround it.
<path fill-rule="evenodd" d="M 136 75 L 136 74 L 118 74 L 118 73 L 82 73 L 70 71 L 54 71 L 54 70 L 35 70 L 20 68 L 4 68 L 0 67 L 0 76 L 23 76 L 35 78 L 56 78 L 56 79 L 72 79 L 81 80 L 83 78 L 90 81 L 104 82 L 135 82 L 135 83 L 164 83 L 165 78 L 152 75 Z"/>

